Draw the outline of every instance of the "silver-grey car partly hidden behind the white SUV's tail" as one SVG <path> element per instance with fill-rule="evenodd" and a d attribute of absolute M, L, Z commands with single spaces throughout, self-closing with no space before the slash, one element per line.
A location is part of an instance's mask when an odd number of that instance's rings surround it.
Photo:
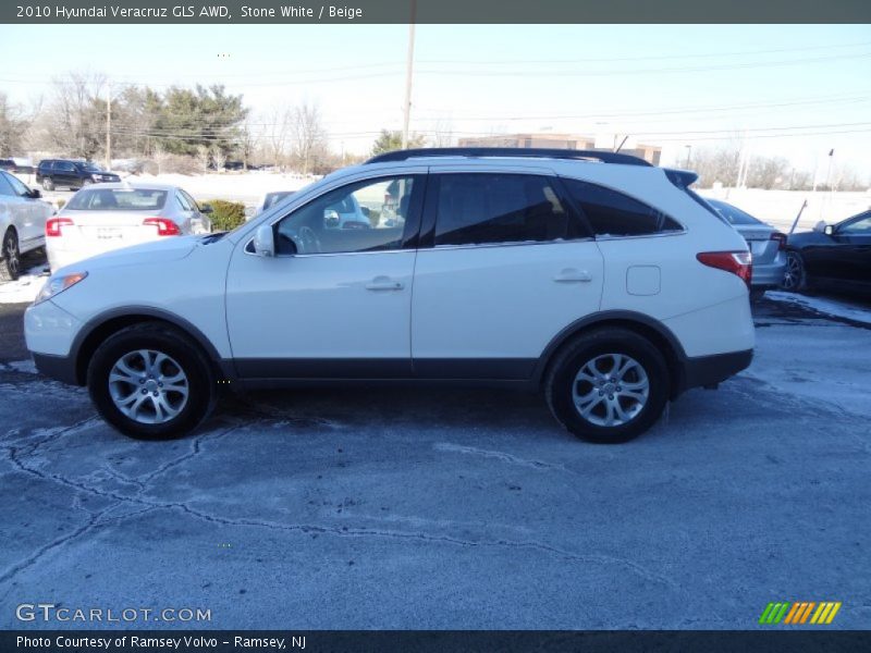
<path fill-rule="evenodd" d="M 786 271 L 786 234 L 728 202 L 719 199 L 707 201 L 728 220 L 750 247 L 753 256 L 750 298 L 759 299 L 766 289 L 780 287 Z"/>

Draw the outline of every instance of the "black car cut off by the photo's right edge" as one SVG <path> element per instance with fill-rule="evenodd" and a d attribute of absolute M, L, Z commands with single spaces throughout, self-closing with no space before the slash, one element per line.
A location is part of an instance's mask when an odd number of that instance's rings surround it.
<path fill-rule="evenodd" d="M 871 211 L 837 224 L 819 222 L 813 231 L 790 234 L 783 287 L 871 296 Z"/>

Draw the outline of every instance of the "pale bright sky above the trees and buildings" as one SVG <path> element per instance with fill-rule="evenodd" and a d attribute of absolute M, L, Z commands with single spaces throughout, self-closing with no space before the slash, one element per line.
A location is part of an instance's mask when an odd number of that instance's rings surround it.
<path fill-rule="evenodd" d="M 223 83 L 254 123 L 317 102 L 333 147 L 400 128 L 406 25 L 0 26 L 0 90 L 28 102 L 52 76 Z M 753 153 L 871 175 L 869 25 L 418 25 L 412 128 L 630 134 L 666 162 L 744 133 Z M 822 173 L 821 173 L 822 174 Z"/>

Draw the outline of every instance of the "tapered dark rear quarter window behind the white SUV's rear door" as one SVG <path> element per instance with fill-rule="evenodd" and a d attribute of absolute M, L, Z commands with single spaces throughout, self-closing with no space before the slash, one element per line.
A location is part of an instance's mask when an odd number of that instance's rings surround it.
<path fill-rule="evenodd" d="M 683 230 L 659 209 L 628 195 L 578 180 L 563 182 L 597 236 L 646 236 Z"/>

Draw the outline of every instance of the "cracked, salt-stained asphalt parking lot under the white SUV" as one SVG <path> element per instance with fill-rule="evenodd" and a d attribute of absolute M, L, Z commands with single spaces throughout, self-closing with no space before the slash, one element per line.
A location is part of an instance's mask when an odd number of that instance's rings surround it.
<path fill-rule="evenodd" d="M 871 626 L 859 322 L 763 301 L 751 368 L 627 445 L 536 396 L 408 389 L 257 393 L 143 443 L 21 362 L 22 308 L 0 307 L 2 628 L 753 628 L 771 601 Z M 16 619 L 40 602 L 211 620 Z"/>

